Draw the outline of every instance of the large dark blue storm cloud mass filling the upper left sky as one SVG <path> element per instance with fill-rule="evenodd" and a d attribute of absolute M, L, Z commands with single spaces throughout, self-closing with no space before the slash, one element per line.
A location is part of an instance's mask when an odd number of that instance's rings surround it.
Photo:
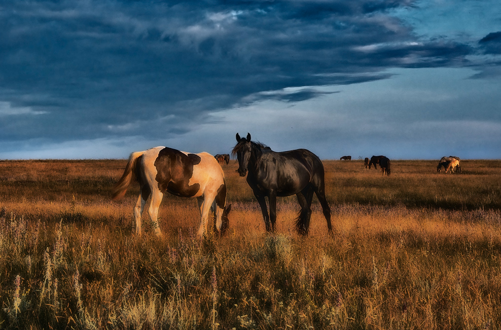
<path fill-rule="evenodd" d="M 292 102 L 321 95 L 266 91 L 386 79 L 381 71 L 390 67 L 465 63 L 470 46 L 420 40 L 389 15 L 414 6 L 411 0 L 5 2 L 0 138 L 168 137 L 252 96 Z M 494 35 L 480 44 L 493 52 L 499 40 Z"/>

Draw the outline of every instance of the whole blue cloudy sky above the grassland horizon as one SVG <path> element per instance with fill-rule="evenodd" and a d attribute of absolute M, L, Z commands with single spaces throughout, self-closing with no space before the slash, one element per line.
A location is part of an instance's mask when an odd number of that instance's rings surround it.
<path fill-rule="evenodd" d="M 0 159 L 501 159 L 499 0 L 0 2 Z"/>

